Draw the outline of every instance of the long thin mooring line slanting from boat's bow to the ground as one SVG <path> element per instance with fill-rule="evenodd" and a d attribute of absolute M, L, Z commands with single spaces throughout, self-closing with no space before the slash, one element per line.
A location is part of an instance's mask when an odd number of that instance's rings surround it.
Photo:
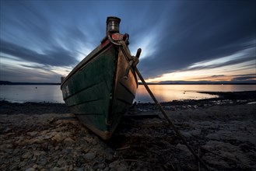
<path fill-rule="evenodd" d="M 140 55 L 141 51 L 142 50 L 139 48 L 138 51 L 137 51 L 137 54 L 136 54 L 137 58 L 139 58 L 139 55 Z M 156 97 L 153 95 L 153 92 L 151 92 L 151 90 L 149 89 L 149 86 L 147 85 L 147 83 L 143 79 L 141 73 L 139 72 L 139 69 L 136 66 L 134 67 L 134 69 L 135 69 L 136 74 L 139 76 L 139 79 L 142 81 L 143 85 L 145 86 L 146 90 L 149 92 L 149 95 L 151 96 L 151 98 L 156 103 L 156 106 L 158 106 L 160 111 L 163 113 L 163 117 L 165 117 L 167 119 L 168 123 L 170 124 L 170 126 L 173 127 L 173 129 L 174 129 L 175 133 L 177 134 L 177 136 L 179 138 L 181 138 L 181 140 L 183 141 L 184 145 L 186 145 L 187 148 L 189 149 L 189 151 L 195 156 L 195 159 L 197 159 L 199 162 L 201 162 L 201 164 L 203 166 L 205 166 L 205 169 L 210 170 L 209 167 L 206 166 L 205 162 L 203 162 L 202 159 L 200 159 L 200 157 L 198 155 L 196 155 L 196 153 L 193 150 L 193 148 L 191 148 L 191 146 L 188 145 L 188 142 L 185 140 L 184 136 L 181 134 L 181 132 L 177 129 L 177 127 L 174 125 L 174 123 L 167 116 L 167 113 L 163 110 L 163 107 L 160 105 L 160 103 L 158 102 Z"/>

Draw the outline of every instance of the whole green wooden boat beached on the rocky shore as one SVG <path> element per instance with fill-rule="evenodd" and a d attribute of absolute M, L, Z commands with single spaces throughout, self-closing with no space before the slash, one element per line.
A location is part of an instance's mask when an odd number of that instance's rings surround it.
<path fill-rule="evenodd" d="M 128 34 L 119 33 L 121 19 L 107 17 L 106 37 L 66 78 L 61 78 L 63 99 L 76 117 L 104 140 L 111 137 L 135 99 L 138 80 L 133 66 L 139 55 L 130 54 Z"/>

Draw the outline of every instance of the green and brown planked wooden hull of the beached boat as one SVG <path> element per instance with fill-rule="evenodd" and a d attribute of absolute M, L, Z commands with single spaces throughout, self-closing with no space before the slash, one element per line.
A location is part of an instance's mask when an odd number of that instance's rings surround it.
<path fill-rule="evenodd" d="M 123 79 L 128 61 L 120 47 L 114 46 L 79 65 L 79 70 L 61 85 L 65 103 L 82 124 L 109 139 L 135 98 L 135 72 L 131 70 L 128 80 Z"/>

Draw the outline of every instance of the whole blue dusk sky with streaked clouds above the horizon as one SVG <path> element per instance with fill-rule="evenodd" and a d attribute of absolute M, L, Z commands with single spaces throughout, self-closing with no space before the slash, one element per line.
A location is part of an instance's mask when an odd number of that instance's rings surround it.
<path fill-rule="evenodd" d="M 252 1 L 1 1 L 0 80 L 60 82 L 121 18 L 146 82 L 256 83 Z"/>

